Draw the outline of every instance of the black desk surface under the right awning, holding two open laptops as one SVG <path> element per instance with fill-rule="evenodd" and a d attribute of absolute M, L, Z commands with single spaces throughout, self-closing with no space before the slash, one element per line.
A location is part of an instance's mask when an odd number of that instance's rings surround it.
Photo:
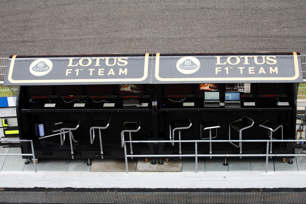
<path fill-rule="evenodd" d="M 194 103 L 194 106 L 183 106 L 185 103 Z M 220 101 L 223 102 L 224 101 Z M 244 102 L 254 102 L 255 106 L 245 106 Z M 241 100 L 241 108 L 225 108 L 224 105 L 220 107 L 205 106 L 204 100 L 184 100 L 182 102 L 173 102 L 168 99 L 163 99 L 160 104 L 160 111 L 263 111 L 263 110 L 281 110 L 291 111 L 292 106 L 289 100 L 281 100 L 281 102 L 288 102 L 289 105 L 277 105 L 275 100 Z"/>

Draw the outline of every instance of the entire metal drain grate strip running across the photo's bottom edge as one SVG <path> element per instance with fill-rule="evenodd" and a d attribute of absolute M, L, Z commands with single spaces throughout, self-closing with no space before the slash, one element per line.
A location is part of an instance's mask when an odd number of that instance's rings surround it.
<path fill-rule="evenodd" d="M 0 203 L 305 204 L 301 193 L 0 192 Z"/>

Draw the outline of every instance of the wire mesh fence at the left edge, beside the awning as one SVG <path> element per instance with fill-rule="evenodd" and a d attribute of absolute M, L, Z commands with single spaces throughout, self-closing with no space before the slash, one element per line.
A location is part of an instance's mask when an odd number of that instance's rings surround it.
<path fill-rule="evenodd" d="M 0 97 L 17 96 L 17 86 L 3 86 L 9 58 L 0 58 Z"/>

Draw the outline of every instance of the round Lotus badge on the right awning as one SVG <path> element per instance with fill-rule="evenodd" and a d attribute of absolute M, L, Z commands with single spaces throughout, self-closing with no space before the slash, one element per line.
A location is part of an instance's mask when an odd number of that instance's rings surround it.
<path fill-rule="evenodd" d="M 183 74 L 193 74 L 200 69 L 200 61 L 195 57 L 182 57 L 177 61 L 176 68 Z"/>

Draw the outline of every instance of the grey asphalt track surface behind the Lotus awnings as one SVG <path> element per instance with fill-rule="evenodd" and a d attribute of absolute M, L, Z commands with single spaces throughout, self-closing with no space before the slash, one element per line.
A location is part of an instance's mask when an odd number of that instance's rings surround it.
<path fill-rule="evenodd" d="M 0 1 L 0 57 L 298 51 L 306 1 Z"/>

